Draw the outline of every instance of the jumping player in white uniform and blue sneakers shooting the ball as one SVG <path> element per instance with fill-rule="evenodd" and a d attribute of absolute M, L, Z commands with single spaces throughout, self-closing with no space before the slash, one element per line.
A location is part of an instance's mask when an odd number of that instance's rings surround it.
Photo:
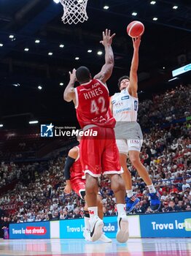
<path fill-rule="evenodd" d="M 138 171 L 141 178 L 147 184 L 149 188 L 150 204 L 153 211 L 157 211 L 160 208 L 159 195 L 156 192 L 152 180 L 149 178 L 146 168 L 140 161 L 140 151 L 143 141 L 143 135 L 141 127 L 137 123 L 137 111 L 138 111 L 138 78 L 137 69 L 139 66 L 139 45 L 141 37 L 133 38 L 133 59 L 130 67 L 130 77 L 123 76 L 119 79 L 120 92 L 114 94 L 110 100 L 110 108 L 113 116 L 117 121 L 115 126 L 115 136 L 117 140 L 117 146 L 120 151 L 120 164 L 124 170 L 122 178 L 125 181 L 128 212 L 133 211 L 136 204 L 139 203 L 139 198 L 133 196 L 132 181 L 130 172 L 127 167 L 127 157 L 129 154 L 130 162 Z"/>

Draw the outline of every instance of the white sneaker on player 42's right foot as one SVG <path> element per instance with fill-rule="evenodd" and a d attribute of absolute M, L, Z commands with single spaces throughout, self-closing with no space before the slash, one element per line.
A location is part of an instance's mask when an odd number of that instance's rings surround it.
<path fill-rule="evenodd" d="M 118 230 L 116 239 L 119 243 L 125 243 L 128 241 L 128 217 L 125 214 L 122 214 L 117 218 Z"/>

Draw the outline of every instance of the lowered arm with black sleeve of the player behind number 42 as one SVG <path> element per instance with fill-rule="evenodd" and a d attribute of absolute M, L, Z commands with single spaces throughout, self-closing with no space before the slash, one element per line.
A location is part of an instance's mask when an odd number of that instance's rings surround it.
<path fill-rule="evenodd" d="M 78 149 L 77 147 L 71 148 L 69 151 L 68 157 L 66 159 L 65 167 L 64 167 L 64 176 L 66 178 L 66 187 L 63 189 L 63 192 L 69 194 L 71 193 L 71 182 L 70 182 L 70 168 L 74 164 L 75 160 L 78 157 Z"/>

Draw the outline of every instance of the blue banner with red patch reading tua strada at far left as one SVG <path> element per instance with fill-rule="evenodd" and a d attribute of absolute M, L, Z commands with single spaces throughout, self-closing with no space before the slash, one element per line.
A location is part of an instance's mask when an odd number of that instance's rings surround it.
<path fill-rule="evenodd" d="M 9 225 L 10 239 L 50 238 L 50 222 L 27 222 Z"/>

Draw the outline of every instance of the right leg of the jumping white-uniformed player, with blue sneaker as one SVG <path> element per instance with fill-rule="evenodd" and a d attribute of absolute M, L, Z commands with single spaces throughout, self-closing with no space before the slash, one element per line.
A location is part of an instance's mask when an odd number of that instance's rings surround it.
<path fill-rule="evenodd" d="M 141 143 L 141 142 L 140 142 Z M 152 211 L 157 211 L 160 208 L 160 195 L 156 192 L 156 189 L 152 183 L 151 178 L 149 177 L 149 173 L 144 165 L 141 163 L 140 159 L 140 150 L 141 147 L 135 147 L 132 143 L 128 142 L 129 146 L 129 158 L 131 164 L 136 168 L 139 173 L 139 176 L 144 180 L 147 184 L 149 189 L 149 196 L 150 196 L 150 206 Z"/>

